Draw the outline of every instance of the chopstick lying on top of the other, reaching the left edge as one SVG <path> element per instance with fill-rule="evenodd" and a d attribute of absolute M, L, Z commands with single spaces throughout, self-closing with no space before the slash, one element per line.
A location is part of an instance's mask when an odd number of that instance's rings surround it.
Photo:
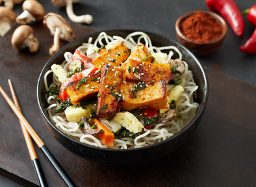
<path fill-rule="evenodd" d="M 8 95 L 5 93 L 5 91 L 3 90 L 3 88 L 0 86 L 0 92 L 3 95 L 3 97 L 5 98 L 6 102 L 8 103 L 8 105 L 10 105 L 10 107 L 12 108 L 12 110 L 14 111 L 14 113 L 16 114 L 16 116 L 18 116 L 19 120 L 21 120 L 21 122 L 23 123 L 23 125 L 26 127 L 27 131 L 29 132 L 29 134 L 31 135 L 31 137 L 33 138 L 34 142 L 36 142 L 36 144 L 38 145 L 38 147 L 43 151 L 45 157 L 47 157 L 47 159 L 49 160 L 49 162 L 51 162 L 51 164 L 53 165 L 53 167 L 55 168 L 55 170 L 58 172 L 58 175 L 60 175 L 60 177 L 62 178 L 62 180 L 66 183 L 67 186 L 75 186 L 74 182 L 70 179 L 70 177 L 68 176 L 68 174 L 66 173 L 66 171 L 63 170 L 62 166 L 60 166 L 60 164 L 58 163 L 58 161 L 55 159 L 55 157 L 51 154 L 51 152 L 49 151 L 49 149 L 47 149 L 47 147 L 45 146 L 44 142 L 40 139 L 40 137 L 38 137 L 38 135 L 36 134 L 36 132 L 34 131 L 34 129 L 31 127 L 31 125 L 29 124 L 29 122 L 27 122 L 27 120 L 25 119 L 25 117 L 21 114 L 21 112 L 19 111 L 19 109 L 16 107 L 16 105 L 12 102 L 12 100 L 10 100 L 10 98 L 8 97 Z"/>

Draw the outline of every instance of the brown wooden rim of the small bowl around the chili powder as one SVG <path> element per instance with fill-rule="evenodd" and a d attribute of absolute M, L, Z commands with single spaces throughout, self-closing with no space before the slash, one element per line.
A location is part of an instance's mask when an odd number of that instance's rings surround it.
<path fill-rule="evenodd" d="M 196 12 L 199 12 L 199 11 L 209 14 L 210 16 L 214 17 L 214 19 L 218 19 L 222 23 L 223 32 L 219 38 L 208 41 L 208 42 L 194 41 L 194 40 L 186 38 L 186 36 L 183 34 L 183 32 L 181 32 L 181 28 L 179 27 L 181 21 L 183 21 L 183 19 L 185 19 L 186 17 L 188 17 Z M 227 34 L 227 22 L 225 21 L 225 19 L 222 16 L 216 14 L 215 12 L 211 12 L 211 11 L 207 11 L 207 10 L 193 10 L 191 12 L 187 12 L 186 14 L 183 14 L 182 16 L 180 16 L 177 19 L 177 21 L 175 23 L 175 30 L 176 30 L 177 35 L 179 35 L 179 37 L 181 37 L 182 39 L 184 39 L 187 42 L 198 44 L 198 45 L 209 45 L 212 43 L 217 43 L 218 41 L 221 41 L 222 39 L 225 38 L 225 35 Z"/>

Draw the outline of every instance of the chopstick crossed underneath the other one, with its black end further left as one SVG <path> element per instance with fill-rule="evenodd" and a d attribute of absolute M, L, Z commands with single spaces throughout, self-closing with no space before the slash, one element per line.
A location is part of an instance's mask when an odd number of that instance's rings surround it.
<path fill-rule="evenodd" d="M 18 102 L 17 96 L 14 92 L 14 87 L 12 86 L 12 82 L 10 81 L 10 79 L 8 79 L 8 83 L 9 83 L 9 86 L 10 86 L 10 92 L 12 93 L 12 99 L 14 100 L 14 104 L 16 105 L 18 110 L 21 112 L 21 108 L 19 107 L 19 102 Z M 29 149 L 29 155 L 31 156 L 31 160 L 32 160 L 32 163 L 33 163 L 33 166 L 34 166 L 34 170 L 36 171 L 36 176 L 37 176 L 38 182 L 39 182 L 40 186 L 47 187 L 48 184 L 45 180 L 41 164 L 40 164 L 40 162 L 38 160 L 38 157 L 36 155 L 36 149 L 34 149 L 34 145 L 32 143 L 31 136 L 29 135 L 29 133 L 25 129 L 25 126 L 23 125 L 21 120 L 19 120 L 19 123 L 21 125 L 21 129 L 22 129 L 22 132 L 23 132 L 26 144 L 27 144 L 27 149 Z"/>

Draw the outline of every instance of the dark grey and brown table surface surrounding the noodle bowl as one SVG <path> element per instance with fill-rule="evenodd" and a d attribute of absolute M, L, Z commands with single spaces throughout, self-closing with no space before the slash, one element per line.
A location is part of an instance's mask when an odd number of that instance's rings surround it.
<path fill-rule="evenodd" d="M 44 5 L 46 12 L 55 12 L 70 20 L 65 8 L 53 7 L 50 1 L 39 2 Z M 240 10 L 254 4 L 249 0 L 236 2 Z M 208 10 L 205 1 L 188 0 L 82 1 L 73 7 L 77 15 L 92 14 L 94 17 L 89 25 L 91 30 L 84 25 L 71 23 L 75 32 L 79 33 L 77 36 L 93 30 L 135 28 L 159 32 L 173 39 L 176 39 L 174 25 L 179 16 L 192 10 Z M 16 5 L 14 11 L 20 14 L 21 5 Z M 235 36 L 229 27 L 220 49 L 199 58 L 209 78 L 210 94 L 205 116 L 196 132 L 168 157 L 140 167 L 113 168 L 93 164 L 73 155 L 51 136 L 40 115 L 35 95 L 36 80 L 44 66 L 44 61 L 38 60 L 38 56 L 50 58 L 47 56 L 47 47 L 51 46 L 50 36 L 38 36 L 44 46 L 40 46 L 36 56 L 12 49 L 8 43 L 11 33 L 6 34 L 0 40 L 0 85 L 10 96 L 7 79 L 12 80 L 24 116 L 77 186 L 255 186 L 256 55 L 244 54 L 239 50 L 254 30 L 247 19 L 245 23 L 242 38 Z M 38 33 L 44 32 L 40 23 L 32 27 L 38 28 Z M 61 45 L 65 45 L 65 42 Z M 21 72 L 26 65 L 30 70 L 27 74 L 32 79 Z M 19 131 L 18 118 L 3 98 L 0 99 L 0 120 L 2 127 L 8 124 L 7 128 L 1 129 L 0 174 L 23 186 L 38 185 L 34 171 L 29 170 L 32 164 Z M 36 151 L 49 186 L 64 186 L 37 147 Z M 6 158 L 3 155 L 11 156 Z M 19 164 L 12 166 L 10 161 Z M 0 178 L 0 186 L 14 187 L 19 184 Z"/>

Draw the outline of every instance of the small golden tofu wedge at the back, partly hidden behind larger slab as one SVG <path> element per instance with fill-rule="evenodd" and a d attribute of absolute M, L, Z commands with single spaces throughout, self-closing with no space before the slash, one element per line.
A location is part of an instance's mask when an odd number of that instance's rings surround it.
<path fill-rule="evenodd" d="M 150 52 L 147 50 L 145 45 L 143 43 L 140 43 L 140 45 L 137 45 L 131 55 L 129 56 L 128 59 L 133 59 L 133 60 L 143 60 L 144 58 L 147 58 L 147 56 L 150 56 Z M 151 63 L 153 56 L 150 56 L 147 58 L 145 61 Z"/>

